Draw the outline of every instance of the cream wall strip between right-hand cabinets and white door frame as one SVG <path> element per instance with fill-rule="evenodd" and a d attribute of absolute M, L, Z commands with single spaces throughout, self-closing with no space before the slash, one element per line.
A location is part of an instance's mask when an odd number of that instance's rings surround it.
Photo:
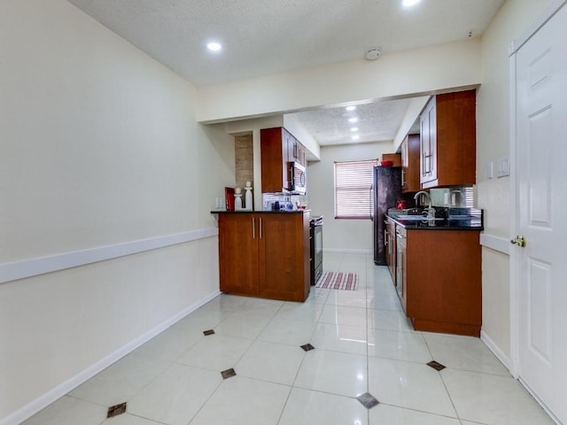
<path fill-rule="evenodd" d="M 487 180 L 486 165 L 509 156 L 508 47 L 545 9 L 547 0 L 508 0 L 482 38 L 482 85 L 477 97 L 478 207 L 485 210 L 485 236 L 509 240 L 509 177 Z M 509 257 L 483 248 L 483 333 L 509 359 Z"/>

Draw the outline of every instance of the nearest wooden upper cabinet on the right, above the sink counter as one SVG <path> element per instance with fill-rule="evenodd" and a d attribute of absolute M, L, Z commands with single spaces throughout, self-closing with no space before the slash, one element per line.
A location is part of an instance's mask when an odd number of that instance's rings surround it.
<path fill-rule="evenodd" d="M 476 90 L 431 97 L 421 115 L 422 189 L 476 183 Z"/>

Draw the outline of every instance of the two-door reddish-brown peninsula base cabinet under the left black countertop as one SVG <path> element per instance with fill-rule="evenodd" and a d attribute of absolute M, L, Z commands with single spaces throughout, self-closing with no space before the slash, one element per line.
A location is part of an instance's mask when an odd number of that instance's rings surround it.
<path fill-rule="evenodd" d="M 221 291 L 305 301 L 309 212 L 219 213 Z"/>

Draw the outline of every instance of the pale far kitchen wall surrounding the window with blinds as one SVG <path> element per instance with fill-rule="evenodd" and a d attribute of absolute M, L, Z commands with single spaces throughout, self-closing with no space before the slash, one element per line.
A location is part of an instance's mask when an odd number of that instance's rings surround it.
<path fill-rule="evenodd" d="M 335 219 L 334 163 L 377 159 L 391 152 L 392 142 L 324 146 L 321 161 L 309 163 L 308 207 L 324 216 L 323 250 L 372 252 L 372 221 Z"/>

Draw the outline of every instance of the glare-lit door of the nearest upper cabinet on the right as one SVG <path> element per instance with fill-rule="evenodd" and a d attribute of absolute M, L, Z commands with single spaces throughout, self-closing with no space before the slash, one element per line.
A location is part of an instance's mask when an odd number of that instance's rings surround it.
<path fill-rule="evenodd" d="M 420 182 L 437 180 L 437 118 L 435 97 L 425 106 L 421 116 Z"/>

